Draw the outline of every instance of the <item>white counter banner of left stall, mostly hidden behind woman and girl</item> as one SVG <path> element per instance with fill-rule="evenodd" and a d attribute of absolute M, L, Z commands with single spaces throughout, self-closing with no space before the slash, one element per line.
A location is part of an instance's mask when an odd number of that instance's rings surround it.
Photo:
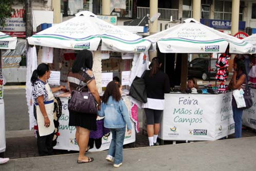
<path fill-rule="evenodd" d="M 57 144 L 53 147 L 54 149 L 66 149 L 79 151 L 79 147 L 75 138 L 76 127 L 69 126 L 69 110 L 68 110 L 68 98 L 60 98 L 62 102 L 62 115 L 59 118 L 59 136 L 57 138 Z M 132 134 L 125 133 L 125 138 L 123 144 L 129 144 L 135 142 L 135 126 L 132 122 Z M 96 148 L 95 145 L 90 149 L 90 152 L 103 151 L 109 149 L 112 135 L 102 137 L 102 142 L 100 148 Z"/>

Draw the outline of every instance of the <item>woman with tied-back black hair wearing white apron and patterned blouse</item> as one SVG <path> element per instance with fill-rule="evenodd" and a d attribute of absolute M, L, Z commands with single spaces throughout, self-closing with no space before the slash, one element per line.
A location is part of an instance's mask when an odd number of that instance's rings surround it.
<path fill-rule="evenodd" d="M 47 83 L 50 72 L 50 67 L 46 63 L 41 63 L 33 71 L 31 77 L 34 116 L 38 125 L 37 147 L 40 156 L 51 155 L 53 151 L 52 139 L 55 126 L 53 123 L 54 97 L 52 92 L 66 89 L 63 86 L 50 88 Z"/>

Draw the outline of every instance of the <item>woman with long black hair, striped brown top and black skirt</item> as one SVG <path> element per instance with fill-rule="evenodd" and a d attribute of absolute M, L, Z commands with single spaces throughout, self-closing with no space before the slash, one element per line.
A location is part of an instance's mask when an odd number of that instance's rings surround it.
<path fill-rule="evenodd" d="M 98 104 L 98 109 L 100 109 L 101 101 L 92 68 L 92 52 L 89 50 L 80 51 L 76 56 L 72 71 L 68 74 L 68 85 L 70 92 L 72 92 L 79 87 L 80 81 L 80 86 L 84 86 L 87 83 L 87 86 L 84 87 L 82 91 L 90 91 Z M 84 154 L 90 149 L 88 146 L 90 130 L 96 131 L 97 129 L 96 118 L 97 114 L 87 114 L 87 111 L 84 111 L 84 113 L 77 113 L 69 110 L 69 125 L 76 126 L 75 137 L 79 146 L 77 163 L 88 163 L 94 160 Z"/>

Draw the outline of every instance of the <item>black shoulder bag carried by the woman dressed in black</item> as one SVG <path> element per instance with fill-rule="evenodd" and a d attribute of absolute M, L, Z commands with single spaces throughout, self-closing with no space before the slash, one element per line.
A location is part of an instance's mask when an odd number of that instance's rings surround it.
<path fill-rule="evenodd" d="M 141 77 L 135 77 L 133 80 L 133 83 L 130 88 L 129 95 L 132 96 L 134 99 L 146 103 L 147 102 L 147 96 L 146 96 L 146 84 L 143 79 L 143 76 L 146 71 L 142 74 Z"/>

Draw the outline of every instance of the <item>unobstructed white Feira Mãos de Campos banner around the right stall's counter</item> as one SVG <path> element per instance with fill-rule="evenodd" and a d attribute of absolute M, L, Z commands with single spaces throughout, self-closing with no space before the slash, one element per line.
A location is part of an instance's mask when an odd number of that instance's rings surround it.
<path fill-rule="evenodd" d="M 216 140 L 234 132 L 231 93 L 165 94 L 159 138 Z"/>

